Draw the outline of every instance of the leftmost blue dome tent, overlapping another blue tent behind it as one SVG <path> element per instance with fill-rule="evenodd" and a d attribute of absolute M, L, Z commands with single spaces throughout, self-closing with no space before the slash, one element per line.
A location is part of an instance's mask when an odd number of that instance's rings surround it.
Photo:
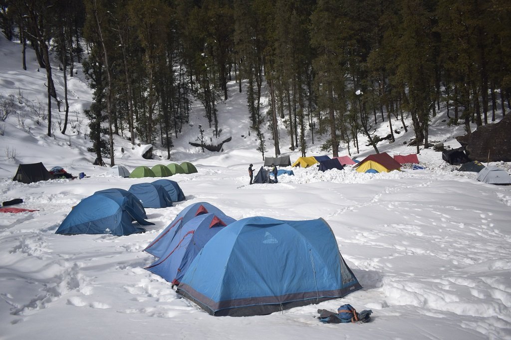
<path fill-rule="evenodd" d="M 123 204 L 105 195 L 92 195 L 69 212 L 55 233 L 123 236 L 146 231 L 132 221 L 133 217 Z"/>

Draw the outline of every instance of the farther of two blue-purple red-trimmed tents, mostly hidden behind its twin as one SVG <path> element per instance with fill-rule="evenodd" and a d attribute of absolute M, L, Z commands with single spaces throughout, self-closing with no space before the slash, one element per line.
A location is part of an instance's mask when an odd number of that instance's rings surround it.
<path fill-rule="evenodd" d="M 222 210 L 207 202 L 197 202 L 181 210 L 174 220 L 144 249 L 156 257 L 161 257 L 169 248 L 176 231 L 195 216 L 214 213 L 225 215 Z"/>

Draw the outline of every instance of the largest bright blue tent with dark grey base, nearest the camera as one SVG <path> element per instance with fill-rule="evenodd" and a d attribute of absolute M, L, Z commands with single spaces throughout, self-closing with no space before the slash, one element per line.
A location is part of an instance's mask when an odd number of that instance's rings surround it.
<path fill-rule="evenodd" d="M 345 296 L 361 285 L 322 219 L 248 217 L 220 230 L 177 288 L 212 315 L 249 316 Z"/>

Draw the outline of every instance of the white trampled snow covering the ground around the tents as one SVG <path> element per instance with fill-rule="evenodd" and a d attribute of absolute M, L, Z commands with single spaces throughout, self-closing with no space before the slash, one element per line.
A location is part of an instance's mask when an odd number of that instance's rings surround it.
<path fill-rule="evenodd" d="M 17 103 L 21 91 L 27 100 L 44 106 L 45 74 L 37 72 L 34 56 L 28 54 L 29 69 L 24 71 L 19 44 L 0 37 L 0 51 L 0 93 L 12 94 Z M 55 66 L 61 95 L 62 73 Z M 455 171 L 433 150 L 421 150 L 424 170 L 405 166 L 402 172 L 359 174 L 350 166 L 325 173 L 293 168 L 295 176 L 282 175 L 278 184 L 248 185 L 248 164 L 253 163 L 257 172 L 263 159 L 255 151 L 254 136 L 248 136 L 245 95 L 234 83 L 229 100 L 218 105 L 226 136 L 233 138 L 221 153 L 202 153 L 188 144 L 196 139 L 198 124 L 207 127 L 199 104 L 183 135 L 174 140 L 170 160 L 161 148 L 155 150 L 153 160 L 145 160 L 141 155 L 147 145 L 131 150 L 127 140 L 115 138 L 115 163 L 130 171 L 138 165 L 195 164 L 198 173 L 171 177 L 187 200 L 169 208 L 146 209 L 155 225 L 147 226 L 143 234 L 55 234 L 72 207 L 95 191 L 128 189 L 148 181 L 115 177 L 107 168 L 92 165 L 95 155 L 86 152 L 89 141 L 84 137 L 83 116 L 91 94 L 81 67 L 76 66 L 78 75 L 68 77 L 68 84 L 69 102 L 76 111 L 71 118 L 80 122 L 78 129 L 68 128 L 64 136 L 57 128 L 55 138 L 48 137 L 47 122 L 40 118 L 37 124 L 26 104 L 18 107 L 26 112 L 25 127 L 16 114 L 3 123 L 0 200 L 21 198 L 24 203 L 16 207 L 38 211 L 0 216 L 0 338 L 511 339 L 510 186 L 480 183 L 477 174 Z M 266 105 L 263 102 L 263 110 Z M 458 147 L 453 136 L 463 134 L 462 128 L 446 127 L 443 114 L 431 122 L 430 138 Z M 400 122 L 392 123 L 400 129 Z M 380 136 L 388 133 L 386 124 L 380 129 Z M 207 133 L 211 135 L 211 130 Z M 396 142 L 384 141 L 379 150 L 390 155 L 413 153 L 414 147 L 403 144 L 412 134 L 401 129 Z M 360 141 L 360 153 L 353 155 L 358 159 L 373 153 L 362 137 Z M 307 156 L 322 154 L 320 142 L 309 144 Z M 345 147 L 340 156 L 347 155 Z M 281 150 L 296 160 L 299 152 L 287 148 L 288 140 L 281 138 Z M 7 150 L 15 152 L 14 159 Z M 268 150 L 267 155 L 274 156 L 270 143 Z M 75 176 L 84 172 L 88 177 L 32 184 L 11 180 L 18 164 L 40 161 L 48 169 L 58 165 Z M 508 163 L 492 164 L 509 172 Z M 164 279 L 144 270 L 154 257 L 142 252 L 178 212 L 200 201 L 236 219 L 324 218 L 363 289 L 342 299 L 270 315 L 208 315 L 180 299 Z M 345 303 L 359 311 L 373 310 L 371 322 L 333 325 L 314 318 L 317 309 L 336 310 Z"/>

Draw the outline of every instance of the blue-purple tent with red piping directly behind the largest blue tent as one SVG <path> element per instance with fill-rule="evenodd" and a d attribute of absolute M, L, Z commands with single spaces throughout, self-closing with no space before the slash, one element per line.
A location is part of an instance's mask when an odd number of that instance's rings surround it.
<path fill-rule="evenodd" d="M 197 253 L 223 227 L 235 222 L 223 214 L 207 213 L 195 216 L 182 227 L 170 242 L 166 252 L 146 269 L 173 284 L 187 272 Z"/>

